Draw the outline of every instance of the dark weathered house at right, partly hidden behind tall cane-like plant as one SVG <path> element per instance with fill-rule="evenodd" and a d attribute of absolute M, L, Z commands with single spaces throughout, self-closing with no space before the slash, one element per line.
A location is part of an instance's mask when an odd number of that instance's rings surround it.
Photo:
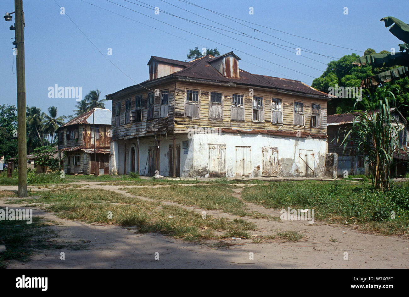
<path fill-rule="evenodd" d="M 377 110 L 372 112 L 376 113 Z M 332 114 L 327 116 L 327 134 L 328 134 L 328 153 L 338 154 L 338 170 L 337 175 L 343 176 L 347 171 L 348 175 L 365 174 L 368 175 L 369 168 L 366 163 L 367 156 L 357 153 L 356 145 L 351 140 L 348 141 L 344 150 L 342 141 L 345 138 L 345 130 L 352 127 L 353 121 L 358 114 Z M 400 154 L 395 154 L 395 159 L 399 161 L 408 161 L 407 151 L 409 151 L 409 129 L 404 116 L 396 108 L 391 108 L 391 115 L 394 118 L 396 130 L 398 130 L 398 142 Z M 402 162 L 394 168 L 394 176 L 405 175 L 407 171 L 407 163 Z"/>

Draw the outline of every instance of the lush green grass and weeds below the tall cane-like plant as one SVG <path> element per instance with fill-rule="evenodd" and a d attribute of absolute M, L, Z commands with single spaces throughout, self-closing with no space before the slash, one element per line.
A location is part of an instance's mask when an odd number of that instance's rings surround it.
<path fill-rule="evenodd" d="M 315 219 L 357 224 L 362 230 L 409 234 L 407 182 L 395 184 L 385 192 L 365 183 L 277 182 L 244 188 L 242 197 L 266 208 L 314 209 Z"/>

